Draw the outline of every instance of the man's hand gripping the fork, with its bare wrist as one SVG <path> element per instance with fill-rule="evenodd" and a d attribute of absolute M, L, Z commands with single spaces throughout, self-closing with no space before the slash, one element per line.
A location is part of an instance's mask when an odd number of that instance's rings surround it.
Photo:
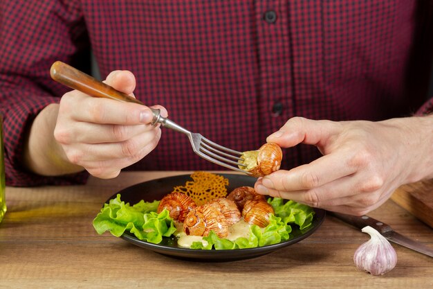
<path fill-rule="evenodd" d="M 129 71 L 113 71 L 105 81 L 132 95 L 136 80 Z M 167 116 L 164 107 L 155 107 Z M 88 170 L 101 178 L 116 177 L 156 148 L 159 125 L 152 126 L 149 107 L 93 98 L 70 91 L 59 105 L 48 105 L 30 130 L 24 164 L 39 175 Z"/>

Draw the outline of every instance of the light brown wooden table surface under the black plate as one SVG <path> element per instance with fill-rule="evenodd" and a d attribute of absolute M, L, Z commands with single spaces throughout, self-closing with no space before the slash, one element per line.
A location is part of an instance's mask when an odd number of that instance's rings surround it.
<path fill-rule="evenodd" d="M 433 288 L 433 259 L 392 244 L 394 270 L 375 277 L 353 264 L 369 235 L 326 216 L 308 238 L 255 259 L 172 259 L 98 235 L 93 218 L 111 195 L 149 179 L 190 172 L 127 172 L 84 186 L 7 187 L 0 224 L 0 288 Z M 369 216 L 433 247 L 433 230 L 394 201 Z"/>

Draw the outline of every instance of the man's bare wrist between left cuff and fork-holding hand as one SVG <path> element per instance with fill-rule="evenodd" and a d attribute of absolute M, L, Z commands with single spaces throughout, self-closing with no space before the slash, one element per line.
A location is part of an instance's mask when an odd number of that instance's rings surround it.
<path fill-rule="evenodd" d="M 26 135 L 22 163 L 37 175 L 67 175 L 84 170 L 81 166 L 71 164 L 62 147 L 55 141 L 53 132 L 58 111 L 58 104 L 45 107 L 37 114 Z"/>

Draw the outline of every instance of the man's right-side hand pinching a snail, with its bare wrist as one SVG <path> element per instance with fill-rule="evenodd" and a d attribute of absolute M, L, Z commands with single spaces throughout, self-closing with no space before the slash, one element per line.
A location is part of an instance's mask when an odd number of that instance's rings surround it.
<path fill-rule="evenodd" d="M 317 146 L 323 157 L 257 181 L 258 193 L 362 215 L 398 186 L 433 177 L 433 116 L 387 121 L 312 121 L 295 117 L 268 142 Z"/>

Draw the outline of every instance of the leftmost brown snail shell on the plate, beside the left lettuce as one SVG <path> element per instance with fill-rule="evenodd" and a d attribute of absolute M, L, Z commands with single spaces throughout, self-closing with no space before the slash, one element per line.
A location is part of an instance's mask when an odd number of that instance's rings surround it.
<path fill-rule="evenodd" d="M 157 212 L 160 213 L 164 209 L 167 209 L 170 212 L 169 216 L 173 220 L 183 222 L 187 213 L 194 207 L 196 207 L 196 203 L 189 195 L 174 192 L 165 195 L 164 198 L 160 200 Z"/>

